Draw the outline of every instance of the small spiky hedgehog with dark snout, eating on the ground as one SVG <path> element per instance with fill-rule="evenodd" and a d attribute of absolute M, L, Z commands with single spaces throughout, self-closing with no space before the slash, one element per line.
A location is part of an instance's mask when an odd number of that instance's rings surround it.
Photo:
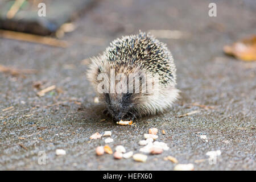
<path fill-rule="evenodd" d="M 150 32 L 115 39 L 91 61 L 87 78 L 114 121 L 164 113 L 179 97 L 172 54 Z"/>

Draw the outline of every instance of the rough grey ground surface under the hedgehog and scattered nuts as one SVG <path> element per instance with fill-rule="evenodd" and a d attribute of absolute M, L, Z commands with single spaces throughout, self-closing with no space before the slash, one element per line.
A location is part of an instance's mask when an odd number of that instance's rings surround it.
<path fill-rule="evenodd" d="M 71 44 L 68 48 L 0 39 L 0 64 L 39 71 L 26 77 L 0 73 L 0 169 L 173 170 L 176 164 L 164 160 L 171 155 L 181 164 L 194 164 L 195 170 L 255 170 L 256 63 L 228 57 L 222 47 L 256 34 L 256 5 L 255 1 L 216 4 L 217 17 L 209 17 L 209 1 L 204 0 L 108 0 L 74 22 L 76 30 L 63 38 Z M 181 97 L 166 114 L 118 126 L 102 114 L 101 104 L 94 103 L 96 94 L 85 77 L 88 65 L 81 60 L 104 51 L 113 39 L 139 30 L 186 33 L 180 39 L 159 39 L 174 55 Z M 56 85 L 59 92 L 38 97 L 36 81 L 42 82 L 40 89 Z M 10 106 L 14 110 L 2 111 Z M 177 117 L 193 110 L 200 113 Z M 104 145 L 104 139 L 89 139 L 109 130 L 113 150 L 122 144 L 126 151 L 137 153 L 139 140 L 151 127 L 158 128 L 158 140 L 170 150 L 148 155 L 145 163 L 96 156 L 95 148 Z M 199 135 L 207 135 L 209 141 Z M 56 156 L 58 148 L 67 155 Z M 215 150 L 221 151 L 217 164 L 200 160 Z M 38 164 L 39 151 L 46 152 L 45 165 Z"/>

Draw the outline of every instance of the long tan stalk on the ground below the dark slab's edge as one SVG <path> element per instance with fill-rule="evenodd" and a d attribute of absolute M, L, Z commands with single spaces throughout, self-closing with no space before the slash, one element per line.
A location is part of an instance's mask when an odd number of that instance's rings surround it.
<path fill-rule="evenodd" d="M 49 38 L 46 36 L 32 35 L 32 34 L 14 32 L 9 30 L 0 30 L 0 37 L 6 38 L 6 39 L 14 39 L 14 40 L 21 40 L 21 41 L 32 42 L 32 43 L 45 44 L 48 46 L 63 47 L 63 48 L 68 47 L 67 41 L 64 41 L 64 40 L 57 40 L 57 39 Z"/>

